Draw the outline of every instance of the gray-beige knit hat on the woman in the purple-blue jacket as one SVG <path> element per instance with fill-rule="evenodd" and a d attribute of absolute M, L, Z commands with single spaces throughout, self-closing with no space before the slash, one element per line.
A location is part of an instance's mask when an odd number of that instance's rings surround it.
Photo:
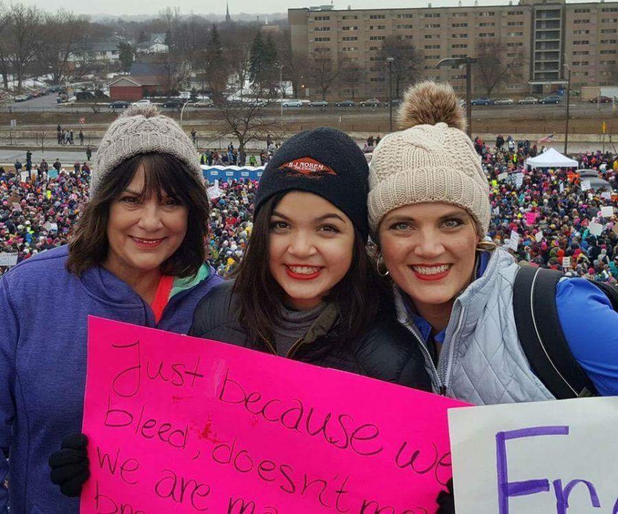
<path fill-rule="evenodd" d="M 108 127 L 101 140 L 91 172 L 90 196 L 95 194 L 109 172 L 140 153 L 172 155 L 197 177 L 202 177 L 197 151 L 181 126 L 160 114 L 155 105 L 135 105 Z"/>

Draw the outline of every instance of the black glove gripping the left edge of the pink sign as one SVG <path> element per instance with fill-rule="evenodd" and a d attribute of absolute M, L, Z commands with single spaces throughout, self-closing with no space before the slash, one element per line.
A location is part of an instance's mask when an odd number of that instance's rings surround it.
<path fill-rule="evenodd" d="M 90 476 L 87 445 L 88 438 L 84 434 L 71 434 L 62 441 L 60 449 L 49 456 L 49 467 L 52 468 L 49 476 L 65 496 L 79 496 L 82 484 Z"/>

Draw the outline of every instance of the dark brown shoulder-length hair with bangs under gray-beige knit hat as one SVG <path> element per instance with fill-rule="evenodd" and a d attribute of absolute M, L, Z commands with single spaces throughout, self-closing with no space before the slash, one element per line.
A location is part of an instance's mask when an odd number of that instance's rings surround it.
<path fill-rule="evenodd" d="M 107 257 L 109 206 L 129 186 L 140 166 L 144 168 L 144 188 L 140 199 L 161 190 L 189 208 L 187 233 L 180 247 L 161 264 L 161 273 L 178 277 L 194 276 L 206 259 L 205 236 L 208 233 L 209 204 L 201 179 L 179 159 L 161 153 L 139 154 L 120 163 L 107 176 L 90 199 L 69 243 L 67 269 L 80 276 L 100 266 Z"/>

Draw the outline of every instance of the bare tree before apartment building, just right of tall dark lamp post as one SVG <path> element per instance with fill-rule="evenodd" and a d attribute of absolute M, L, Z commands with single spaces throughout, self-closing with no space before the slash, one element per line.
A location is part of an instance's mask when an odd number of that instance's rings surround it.
<path fill-rule="evenodd" d="M 499 85 L 521 80 L 525 54 L 494 41 L 477 45 L 476 83 L 488 96 Z"/>

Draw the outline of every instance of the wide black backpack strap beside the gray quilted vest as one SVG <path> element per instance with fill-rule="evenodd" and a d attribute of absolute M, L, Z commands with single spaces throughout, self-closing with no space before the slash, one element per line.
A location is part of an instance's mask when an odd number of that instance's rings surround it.
<path fill-rule="evenodd" d="M 559 271 L 520 267 L 513 288 L 517 334 L 532 371 L 553 396 L 596 396 L 595 386 L 573 357 L 562 333 L 556 308 L 560 278 Z"/>

